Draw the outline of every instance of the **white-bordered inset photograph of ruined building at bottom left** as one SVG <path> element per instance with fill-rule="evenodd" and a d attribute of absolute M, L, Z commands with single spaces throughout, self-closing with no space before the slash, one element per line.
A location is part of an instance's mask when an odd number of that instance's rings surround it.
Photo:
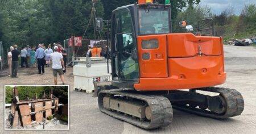
<path fill-rule="evenodd" d="M 5 129 L 69 129 L 69 86 L 5 86 Z"/>

